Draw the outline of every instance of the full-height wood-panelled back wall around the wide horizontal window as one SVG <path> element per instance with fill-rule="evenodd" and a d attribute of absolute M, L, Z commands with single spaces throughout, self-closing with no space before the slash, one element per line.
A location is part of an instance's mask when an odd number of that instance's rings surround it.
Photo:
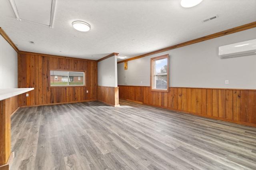
<path fill-rule="evenodd" d="M 49 105 L 97 100 L 97 61 L 54 55 L 18 53 L 18 87 L 34 87 L 22 94 L 20 106 Z M 85 86 L 50 87 L 50 69 L 84 71 Z M 88 90 L 88 93 L 86 91 Z"/>

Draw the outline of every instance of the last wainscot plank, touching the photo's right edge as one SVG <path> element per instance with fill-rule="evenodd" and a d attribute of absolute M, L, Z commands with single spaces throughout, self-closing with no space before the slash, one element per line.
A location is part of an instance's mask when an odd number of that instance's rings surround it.
<path fill-rule="evenodd" d="M 249 91 L 249 123 L 256 124 L 256 91 Z"/>

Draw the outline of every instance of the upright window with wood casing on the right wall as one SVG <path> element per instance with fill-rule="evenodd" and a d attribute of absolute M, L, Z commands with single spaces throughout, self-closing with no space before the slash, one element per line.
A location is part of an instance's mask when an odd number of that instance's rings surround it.
<path fill-rule="evenodd" d="M 169 54 L 151 58 L 151 90 L 168 92 Z"/>

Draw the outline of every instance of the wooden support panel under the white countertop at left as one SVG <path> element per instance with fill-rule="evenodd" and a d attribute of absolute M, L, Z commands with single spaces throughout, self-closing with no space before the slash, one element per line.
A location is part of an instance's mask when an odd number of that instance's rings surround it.
<path fill-rule="evenodd" d="M 11 154 L 11 115 L 17 109 L 18 96 L 0 101 L 0 169 L 9 169 L 7 162 Z"/>

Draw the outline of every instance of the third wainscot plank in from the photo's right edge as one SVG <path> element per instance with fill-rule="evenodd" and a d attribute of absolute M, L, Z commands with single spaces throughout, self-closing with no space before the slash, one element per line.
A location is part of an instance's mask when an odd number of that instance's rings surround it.
<path fill-rule="evenodd" d="M 241 120 L 241 91 L 233 90 L 233 120 Z"/>

